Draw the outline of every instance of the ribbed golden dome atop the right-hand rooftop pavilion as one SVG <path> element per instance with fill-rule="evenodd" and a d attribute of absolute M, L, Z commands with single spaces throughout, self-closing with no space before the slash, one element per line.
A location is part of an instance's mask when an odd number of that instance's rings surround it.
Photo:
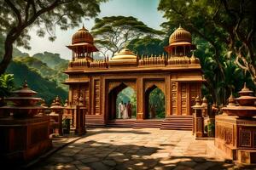
<path fill-rule="evenodd" d="M 172 33 L 169 38 L 169 44 L 183 44 L 183 43 L 190 43 L 192 42 L 191 34 L 189 31 L 184 30 L 181 26 L 177 28 L 176 31 Z"/>

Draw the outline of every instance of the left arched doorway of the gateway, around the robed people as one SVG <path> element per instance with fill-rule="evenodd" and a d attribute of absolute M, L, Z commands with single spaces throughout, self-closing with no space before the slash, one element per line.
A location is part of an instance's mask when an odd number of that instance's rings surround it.
<path fill-rule="evenodd" d="M 126 107 L 127 116 L 119 114 L 119 105 L 123 103 L 124 109 Z M 130 109 L 127 105 L 130 105 Z M 137 94 L 131 87 L 120 83 L 116 88 L 113 88 L 108 94 L 108 120 L 113 119 L 131 119 L 136 118 L 137 112 Z"/>

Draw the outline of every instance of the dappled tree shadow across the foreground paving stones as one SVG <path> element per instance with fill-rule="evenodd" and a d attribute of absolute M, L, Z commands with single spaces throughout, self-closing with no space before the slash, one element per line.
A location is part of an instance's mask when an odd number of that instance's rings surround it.
<path fill-rule="evenodd" d="M 173 144 L 168 145 L 172 150 Z M 201 156 L 172 156 L 160 147 L 90 140 L 70 144 L 32 169 L 228 169 L 232 163 Z"/>

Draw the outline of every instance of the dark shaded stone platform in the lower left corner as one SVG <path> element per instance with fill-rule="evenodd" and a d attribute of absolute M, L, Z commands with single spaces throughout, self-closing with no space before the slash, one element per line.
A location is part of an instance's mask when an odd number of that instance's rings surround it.
<path fill-rule="evenodd" d="M 0 119 L 0 162 L 24 163 L 49 150 L 49 116 Z"/>

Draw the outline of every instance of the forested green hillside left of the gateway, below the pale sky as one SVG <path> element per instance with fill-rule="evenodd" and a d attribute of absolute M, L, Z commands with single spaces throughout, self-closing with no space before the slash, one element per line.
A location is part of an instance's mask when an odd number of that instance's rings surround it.
<path fill-rule="evenodd" d="M 0 59 L 4 54 L 3 41 L 4 37 L 0 34 Z M 15 88 L 20 88 L 26 80 L 29 87 L 38 92 L 37 96 L 45 99 L 48 104 L 57 95 L 60 96 L 62 101 L 67 99 L 67 86 L 61 84 L 67 78 L 67 75 L 62 73 L 67 68 L 67 60 L 63 59 L 66 61 L 66 65 L 65 62 L 59 62 L 58 67 L 61 69 L 55 71 L 49 68 L 46 63 L 29 57 L 29 54 L 22 53 L 17 48 L 14 48 L 13 56 L 13 61 L 7 69 L 7 73 L 14 74 Z M 57 59 L 61 58 L 56 57 L 55 60 Z"/>

